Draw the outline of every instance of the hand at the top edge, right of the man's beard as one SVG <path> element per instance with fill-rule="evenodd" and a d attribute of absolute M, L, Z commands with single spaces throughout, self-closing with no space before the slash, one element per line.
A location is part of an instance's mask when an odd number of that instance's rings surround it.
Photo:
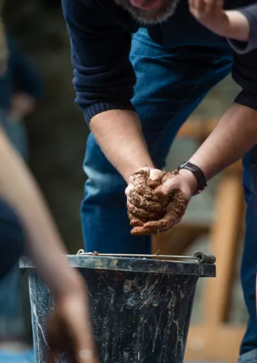
<path fill-rule="evenodd" d="M 229 28 L 229 17 L 223 10 L 223 0 L 189 0 L 189 10 L 209 30 L 225 36 Z"/>

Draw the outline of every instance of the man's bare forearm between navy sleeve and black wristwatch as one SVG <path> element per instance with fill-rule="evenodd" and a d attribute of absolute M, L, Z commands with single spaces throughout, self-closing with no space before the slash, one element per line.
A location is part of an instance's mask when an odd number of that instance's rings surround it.
<path fill-rule="evenodd" d="M 209 180 L 256 144 L 257 111 L 233 104 L 189 161 L 198 165 Z"/>

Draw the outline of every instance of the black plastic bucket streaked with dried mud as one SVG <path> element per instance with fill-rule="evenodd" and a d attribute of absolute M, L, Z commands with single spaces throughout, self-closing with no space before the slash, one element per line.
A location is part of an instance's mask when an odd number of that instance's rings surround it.
<path fill-rule="evenodd" d="M 215 265 L 199 256 L 193 262 L 68 256 L 88 284 L 100 363 L 183 361 L 196 283 L 216 274 Z M 46 320 L 54 298 L 30 261 L 22 259 L 20 267 L 29 270 L 35 363 L 45 363 Z"/>

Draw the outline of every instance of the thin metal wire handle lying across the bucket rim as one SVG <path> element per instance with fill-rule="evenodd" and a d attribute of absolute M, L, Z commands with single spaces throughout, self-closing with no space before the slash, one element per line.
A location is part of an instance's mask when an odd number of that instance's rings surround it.
<path fill-rule="evenodd" d="M 84 250 L 79 250 L 77 252 L 78 256 L 103 256 L 103 257 L 141 257 L 141 258 L 153 258 L 159 257 L 162 259 L 192 259 L 199 263 L 211 263 L 216 262 L 216 257 L 213 254 L 204 254 L 202 252 L 196 252 L 193 256 L 172 256 L 166 254 L 111 254 L 111 253 L 99 253 L 99 252 L 84 252 Z"/>

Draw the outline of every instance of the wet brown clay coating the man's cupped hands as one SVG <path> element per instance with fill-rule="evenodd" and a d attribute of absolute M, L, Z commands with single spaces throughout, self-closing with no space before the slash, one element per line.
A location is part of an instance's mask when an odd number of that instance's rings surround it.
<path fill-rule="evenodd" d="M 128 203 L 128 218 L 133 227 L 131 234 L 156 234 L 158 230 L 164 229 L 166 225 L 175 224 L 175 221 L 183 216 L 187 208 L 187 199 L 182 190 L 173 189 L 168 196 L 164 196 L 162 192 L 158 193 L 160 185 L 178 173 L 178 170 L 167 173 L 164 171 L 162 180 L 157 182 L 149 180 L 147 171 L 133 175 L 133 183 L 137 181 L 137 190 L 131 192 Z"/>

